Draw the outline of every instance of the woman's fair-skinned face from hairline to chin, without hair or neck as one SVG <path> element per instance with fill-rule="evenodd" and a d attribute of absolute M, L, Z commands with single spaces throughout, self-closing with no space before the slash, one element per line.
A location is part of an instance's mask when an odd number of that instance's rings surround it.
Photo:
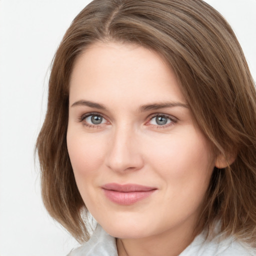
<path fill-rule="evenodd" d="M 98 42 L 77 58 L 67 148 L 86 207 L 111 235 L 194 227 L 216 159 L 153 51 Z"/>

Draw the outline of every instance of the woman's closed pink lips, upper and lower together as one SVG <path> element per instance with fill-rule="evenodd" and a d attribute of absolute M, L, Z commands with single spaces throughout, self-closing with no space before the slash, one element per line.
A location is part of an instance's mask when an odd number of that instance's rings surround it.
<path fill-rule="evenodd" d="M 150 196 L 156 187 L 138 184 L 108 183 L 102 186 L 105 196 L 112 202 L 122 205 L 133 204 Z"/>

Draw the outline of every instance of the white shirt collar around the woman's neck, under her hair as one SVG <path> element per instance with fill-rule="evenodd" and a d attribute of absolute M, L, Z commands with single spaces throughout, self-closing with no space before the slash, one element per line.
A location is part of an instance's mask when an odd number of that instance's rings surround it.
<path fill-rule="evenodd" d="M 245 248 L 232 238 L 206 241 L 204 237 L 197 235 L 178 256 L 256 256 L 255 249 Z M 115 238 L 97 224 L 90 239 L 67 256 L 118 256 Z"/>

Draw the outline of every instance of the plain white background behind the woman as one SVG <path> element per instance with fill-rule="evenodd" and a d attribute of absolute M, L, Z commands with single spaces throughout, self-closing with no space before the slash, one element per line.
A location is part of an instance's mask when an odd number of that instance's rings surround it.
<path fill-rule="evenodd" d="M 256 0 L 206 0 L 229 21 L 256 78 Z M 77 243 L 46 213 L 33 150 L 48 68 L 89 0 L 0 0 L 0 255 L 62 256 Z"/>

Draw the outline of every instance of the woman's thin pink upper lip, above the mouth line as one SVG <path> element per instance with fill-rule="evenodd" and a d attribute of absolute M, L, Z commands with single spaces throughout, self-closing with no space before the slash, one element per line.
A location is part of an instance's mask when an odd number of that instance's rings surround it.
<path fill-rule="evenodd" d="M 118 183 L 107 183 L 102 186 L 106 190 L 114 190 L 119 192 L 135 192 L 135 191 L 150 191 L 156 189 L 152 186 L 144 186 L 139 184 L 118 184 Z"/>

